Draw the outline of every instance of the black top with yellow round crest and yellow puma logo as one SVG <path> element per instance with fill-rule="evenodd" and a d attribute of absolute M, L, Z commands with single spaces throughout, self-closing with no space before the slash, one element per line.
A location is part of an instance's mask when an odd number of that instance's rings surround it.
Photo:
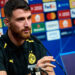
<path fill-rule="evenodd" d="M 32 35 L 19 47 L 10 41 L 7 34 L 0 38 L 0 71 L 6 71 L 7 75 L 26 75 L 30 73 L 28 65 L 36 64 L 45 55 L 46 49 Z"/>

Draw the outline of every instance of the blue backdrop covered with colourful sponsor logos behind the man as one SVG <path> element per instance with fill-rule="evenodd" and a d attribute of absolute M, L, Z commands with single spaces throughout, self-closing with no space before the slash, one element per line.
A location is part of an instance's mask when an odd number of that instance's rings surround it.
<path fill-rule="evenodd" d="M 3 6 L 6 2 L 7 0 L 0 0 L 0 36 L 7 30 L 3 22 L 5 18 Z M 32 34 L 41 40 L 48 49 L 47 55 L 51 53 L 67 75 L 75 75 L 73 61 L 69 63 L 72 68 L 66 61 L 68 70 L 71 71 L 69 74 L 63 58 L 71 54 L 75 58 L 75 0 L 27 0 L 27 2 L 32 11 Z M 71 58 L 67 56 L 67 59 Z M 54 64 L 56 75 L 64 75 L 60 67 Z"/>

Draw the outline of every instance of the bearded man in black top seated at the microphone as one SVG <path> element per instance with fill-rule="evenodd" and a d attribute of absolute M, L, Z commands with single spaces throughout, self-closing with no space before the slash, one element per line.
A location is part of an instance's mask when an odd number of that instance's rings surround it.
<path fill-rule="evenodd" d="M 9 0 L 4 6 L 8 31 L 0 38 L 0 75 L 28 75 L 28 66 L 36 64 L 48 75 L 55 75 L 46 49 L 31 35 L 31 11 L 24 0 Z M 44 75 L 44 72 L 41 72 Z"/>

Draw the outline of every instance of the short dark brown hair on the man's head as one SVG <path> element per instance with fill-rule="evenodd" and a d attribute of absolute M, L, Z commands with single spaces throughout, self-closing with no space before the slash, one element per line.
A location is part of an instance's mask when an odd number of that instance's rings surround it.
<path fill-rule="evenodd" d="M 25 0 L 8 0 L 8 2 L 4 6 L 5 16 L 11 17 L 13 10 L 19 8 L 30 10 L 30 6 Z"/>

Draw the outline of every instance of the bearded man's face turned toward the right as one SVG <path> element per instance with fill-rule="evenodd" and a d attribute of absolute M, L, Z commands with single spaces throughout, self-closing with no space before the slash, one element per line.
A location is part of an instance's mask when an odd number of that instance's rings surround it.
<path fill-rule="evenodd" d="M 16 9 L 9 21 L 9 30 L 16 38 L 27 39 L 31 34 L 31 11 Z"/>

